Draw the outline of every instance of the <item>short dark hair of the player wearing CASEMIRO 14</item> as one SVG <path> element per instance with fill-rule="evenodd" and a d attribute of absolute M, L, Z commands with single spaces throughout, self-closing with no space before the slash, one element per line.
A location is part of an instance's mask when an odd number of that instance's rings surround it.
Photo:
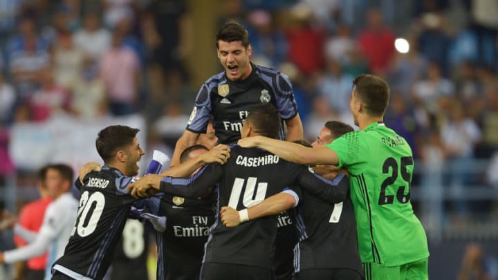
<path fill-rule="evenodd" d="M 268 138 L 278 139 L 280 132 L 280 115 L 270 103 L 255 106 L 246 118 L 252 124 L 255 133 Z"/>

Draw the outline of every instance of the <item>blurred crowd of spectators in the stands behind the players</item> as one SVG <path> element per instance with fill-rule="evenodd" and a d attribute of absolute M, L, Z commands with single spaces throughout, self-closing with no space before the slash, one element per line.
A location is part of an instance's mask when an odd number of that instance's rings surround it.
<path fill-rule="evenodd" d="M 241 22 L 252 61 L 291 77 L 308 140 L 328 120 L 352 122 L 351 82 L 374 73 L 391 86 L 387 126 L 422 163 L 414 184 L 431 194 L 443 185 L 457 193 L 469 185 L 498 187 L 497 1 L 217 2 L 215 26 Z M 0 175 L 15 172 L 9 127 L 61 114 L 140 113 L 150 125 L 149 142 L 174 147 L 200 86 L 185 64 L 200 55 L 192 44 L 192 5 L 1 1 Z M 396 50 L 397 37 L 408 41 L 407 53 Z M 490 165 L 474 168 L 476 159 Z M 458 216 L 475 208 L 450 204 Z M 479 205 L 486 212 L 497 208 L 492 201 Z"/>

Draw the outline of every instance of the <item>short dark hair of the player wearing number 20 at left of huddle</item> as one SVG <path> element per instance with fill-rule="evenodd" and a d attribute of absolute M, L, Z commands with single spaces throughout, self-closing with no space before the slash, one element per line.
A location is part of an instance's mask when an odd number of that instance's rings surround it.
<path fill-rule="evenodd" d="M 97 147 L 97 152 L 104 163 L 112 160 L 119 149 L 133 144 L 133 138 L 138 131 L 140 129 L 133 129 L 125 125 L 111 125 L 99 131 L 95 147 Z"/>

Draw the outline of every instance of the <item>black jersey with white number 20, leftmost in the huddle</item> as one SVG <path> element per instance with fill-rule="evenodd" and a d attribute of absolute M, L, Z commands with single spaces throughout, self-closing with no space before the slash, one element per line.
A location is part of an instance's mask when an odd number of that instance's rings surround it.
<path fill-rule="evenodd" d="M 133 203 L 126 193 L 130 181 L 107 166 L 85 176 L 75 227 L 54 269 L 72 277 L 102 279 Z"/>

